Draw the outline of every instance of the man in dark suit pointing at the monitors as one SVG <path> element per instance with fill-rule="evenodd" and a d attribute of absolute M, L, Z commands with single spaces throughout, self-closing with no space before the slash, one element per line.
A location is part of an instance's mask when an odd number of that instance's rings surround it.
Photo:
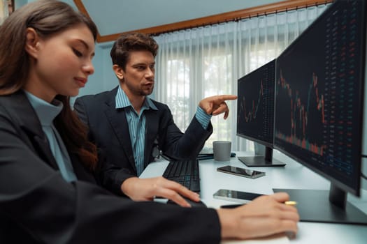
<path fill-rule="evenodd" d="M 227 118 L 226 100 L 231 95 L 213 96 L 199 102 L 189 127 L 182 133 L 175 125 L 170 109 L 151 100 L 154 87 L 154 57 L 158 45 L 141 33 L 120 36 L 110 51 L 113 70 L 120 86 L 94 96 L 83 96 L 74 108 L 89 128 L 89 139 L 99 148 L 101 183 L 116 194 L 134 200 L 165 197 L 185 206 L 180 196 L 199 201 L 196 193 L 162 177 L 140 179 L 137 176 L 154 160 L 159 151 L 170 158 L 196 158 L 213 132 L 210 118 Z"/>

